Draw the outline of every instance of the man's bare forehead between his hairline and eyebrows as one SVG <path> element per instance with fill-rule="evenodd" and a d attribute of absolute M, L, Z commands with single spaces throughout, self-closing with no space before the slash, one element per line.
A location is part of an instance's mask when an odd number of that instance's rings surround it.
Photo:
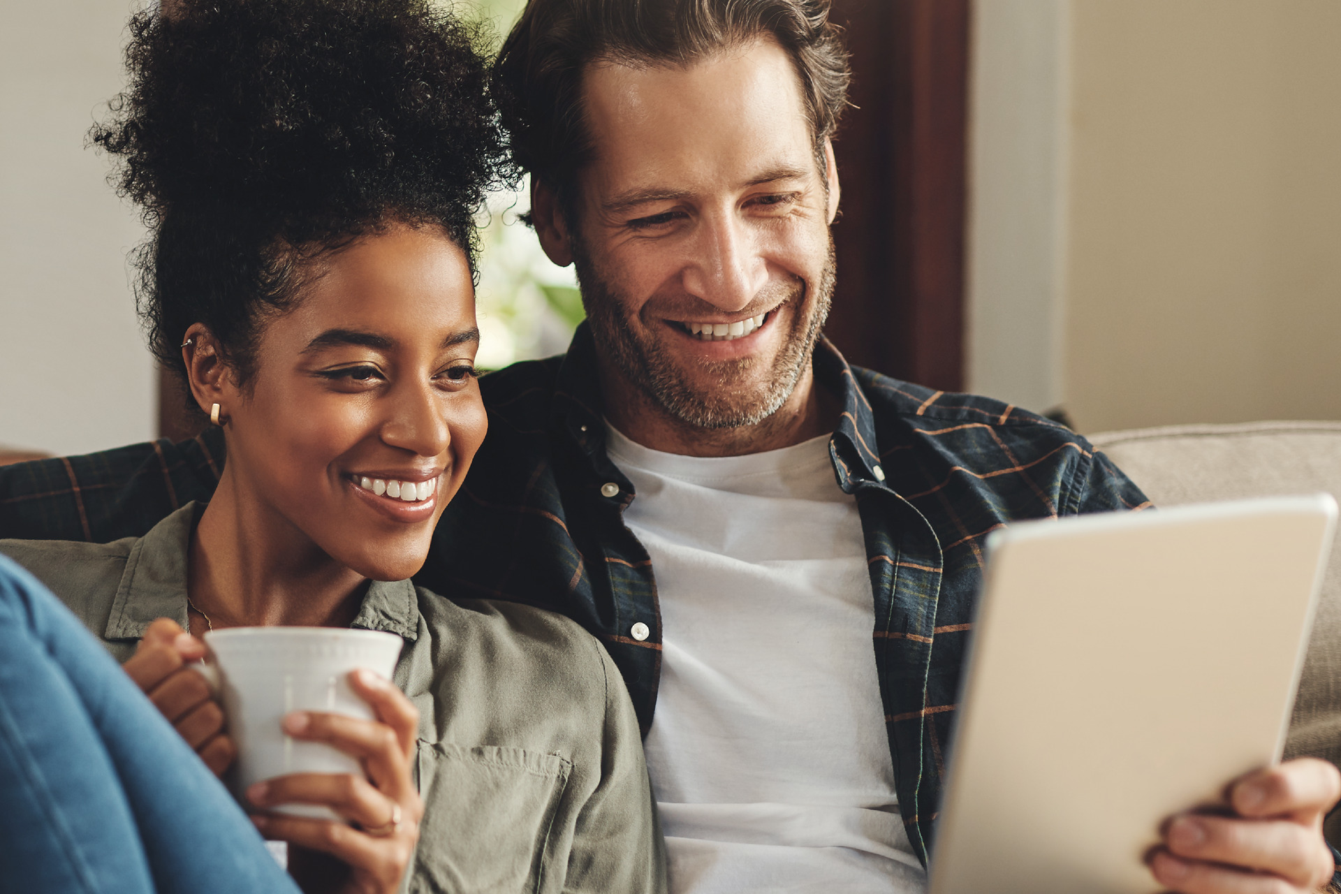
<path fill-rule="evenodd" d="M 687 66 L 591 63 L 583 113 L 602 192 L 723 174 L 743 184 L 814 155 L 799 79 L 772 39 Z"/>

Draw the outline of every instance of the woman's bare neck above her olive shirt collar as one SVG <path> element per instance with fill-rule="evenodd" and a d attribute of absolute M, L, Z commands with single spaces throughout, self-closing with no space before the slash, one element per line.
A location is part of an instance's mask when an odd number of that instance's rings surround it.
<path fill-rule="evenodd" d="M 367 586 L 224 468 L 186 562 L 186 592 L 212 627 L 346 627 Z"/>

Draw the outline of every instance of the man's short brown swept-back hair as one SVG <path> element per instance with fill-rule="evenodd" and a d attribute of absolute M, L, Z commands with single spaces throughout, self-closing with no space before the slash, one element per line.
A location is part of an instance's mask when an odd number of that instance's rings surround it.
<path fill-rule="evenodd" d="M 850 70 L 830 0 L 530 0 L 495 66 L 518 165 L 573 209 L 591 154 L 582 75 L 597 60 L 684 66 L 759 36 L 791 58 L 818 157 L 848 102 Z"/>

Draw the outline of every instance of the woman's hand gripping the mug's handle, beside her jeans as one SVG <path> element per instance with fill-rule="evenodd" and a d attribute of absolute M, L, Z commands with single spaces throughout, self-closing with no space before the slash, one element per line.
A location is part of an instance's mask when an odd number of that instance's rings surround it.
<path fill-rule="evenodd" d="M 170 618 L 160 618 L 149 625 L 135 654 L 122 667 L 200 755 L 205 767 L 220 776 L 237 757 L 237 748 L 223 732 L 224 710 L 215 701 L 209 684 L 186 667 L 188 662 L 204 657 L 205 643 Z"/>

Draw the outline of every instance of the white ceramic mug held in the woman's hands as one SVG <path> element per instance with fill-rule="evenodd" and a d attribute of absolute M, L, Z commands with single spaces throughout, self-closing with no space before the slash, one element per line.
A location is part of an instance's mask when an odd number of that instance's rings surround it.
<path fill-rule="evenodd" d="M 323 743 L 299 741 L 280 726 L 292 710 L 318 710 L 375 720 L 373 709 L 349 685 L 359 667 L 392 678 L 402 639 L 375 630 L 339 627 L 229 627 L 205 634 L 211 657 L 194 665 L 224 702 L 228 735 L 237 745 L 235 784 L 239 800 L 252 783 L 288 773 L 363 775 L 358 759 Z M 334 819 L 315 804 L 284 804 L 275 811 Z"/>

